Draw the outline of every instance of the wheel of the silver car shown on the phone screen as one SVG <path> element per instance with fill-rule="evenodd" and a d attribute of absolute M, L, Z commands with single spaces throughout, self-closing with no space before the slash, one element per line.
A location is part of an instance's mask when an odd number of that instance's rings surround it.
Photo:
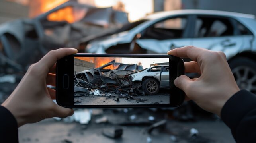
<path fill-rule="evenodd" d="M 142 89 L 146 95 L 156 95 L 160 89 L 159 82 L 153 78 L 145 79 L 142 83 Z"/>

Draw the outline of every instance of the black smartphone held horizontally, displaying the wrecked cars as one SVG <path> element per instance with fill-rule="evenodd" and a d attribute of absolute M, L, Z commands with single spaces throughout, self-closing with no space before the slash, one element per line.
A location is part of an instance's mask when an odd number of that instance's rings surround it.
<path fill-rule="evenodd" d="M 182 58 L 152 54 L 73 54 L 57 61 L 56 101 L 67 108 L 176 107 Z"/>

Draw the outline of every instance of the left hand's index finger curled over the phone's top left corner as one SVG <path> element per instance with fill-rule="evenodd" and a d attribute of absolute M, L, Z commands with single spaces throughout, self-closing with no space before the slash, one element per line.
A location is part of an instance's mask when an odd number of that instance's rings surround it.
<path fill-rule="evenodd" d="M 77 50 L 74 48 L 60 48 L 57 50 L 51 50 L 43 58 L 41 58 L 38 63 L 43 65 L 43 69 L 48 70 L 49 72 L 50 68 L 53 67 L 57 60 L 63 58 L 64 56 L 76 53 Z"/>

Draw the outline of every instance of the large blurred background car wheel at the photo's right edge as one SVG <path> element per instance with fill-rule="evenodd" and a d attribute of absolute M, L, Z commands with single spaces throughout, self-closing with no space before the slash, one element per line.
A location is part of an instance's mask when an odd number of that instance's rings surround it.
<path fill-rule="evenodd" d="M 238 87 L 256 94 L 256 62 L 249 58 L 239 57 L 231 60 L 229 66 Z"/>

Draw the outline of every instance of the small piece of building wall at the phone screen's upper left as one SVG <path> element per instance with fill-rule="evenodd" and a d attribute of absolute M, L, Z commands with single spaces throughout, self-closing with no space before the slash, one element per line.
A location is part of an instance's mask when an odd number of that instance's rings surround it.
<path fill-rule="evenodd" d="M 74 73 L 78 73 L 84 70 L 89 70 L 91 68 L 94 68 L 94 63 L 87 62 L 80 59 L 74 59 Z"/>

